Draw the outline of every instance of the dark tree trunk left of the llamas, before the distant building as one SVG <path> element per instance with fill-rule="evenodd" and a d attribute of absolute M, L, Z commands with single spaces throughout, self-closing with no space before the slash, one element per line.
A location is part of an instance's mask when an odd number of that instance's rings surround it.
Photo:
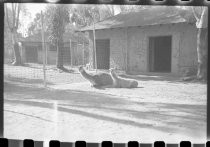
<path fill-rule="evenodd" d="M 58 69 L 64 69 L 63 67 L 63 42 L 61 40 L 57 41 L 57 63 Z"/>

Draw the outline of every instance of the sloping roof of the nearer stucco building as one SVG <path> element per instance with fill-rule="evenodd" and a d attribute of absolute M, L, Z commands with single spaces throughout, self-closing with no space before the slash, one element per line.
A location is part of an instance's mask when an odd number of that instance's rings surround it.
<path fill-rule="evenodd" d="M 134 26 L 148 26 L 172 23 L 190 23 L 192 12 L 174 6 L 155 6 L 138 12 L 120 13 L 103 21 L 95 23 L 95 29 L 123 28 Z M 193 18 L 194 21 L 194 18 Z M 93 26 L 87 26 L 80 31 L 93 30 Z"/>

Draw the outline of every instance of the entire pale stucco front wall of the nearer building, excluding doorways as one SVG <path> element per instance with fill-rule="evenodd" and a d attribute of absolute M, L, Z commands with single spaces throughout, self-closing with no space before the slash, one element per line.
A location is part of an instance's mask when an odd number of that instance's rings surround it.
<path fill-rule="evenodd" d="M 196 66 L 196 27 L 192 24 L 169 24 L 97 30 L 96 39 L 110 39 L 110 66 L 130 73 L 148 72 L 149 37 L 172 36 L 172 73 Z M 92 32 L 90 32 L 92 38 Z"/>

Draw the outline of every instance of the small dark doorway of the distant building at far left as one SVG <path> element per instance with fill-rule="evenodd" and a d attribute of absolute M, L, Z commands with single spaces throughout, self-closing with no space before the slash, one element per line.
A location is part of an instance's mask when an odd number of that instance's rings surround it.
<path fill-rule="evenodd" d="M 35 46 L 26 46 L 25 50 L 26 62 L 37 63 L 38 62 L 38 50 Z"/>

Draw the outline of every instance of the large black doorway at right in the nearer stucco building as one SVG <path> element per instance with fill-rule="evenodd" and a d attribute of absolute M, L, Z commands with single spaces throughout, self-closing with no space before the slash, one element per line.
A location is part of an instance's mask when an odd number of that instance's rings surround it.
<path fill-rule="evenodd" d="M 150 72 L 171 72 L 171 36 L 149 38 Z"/>

